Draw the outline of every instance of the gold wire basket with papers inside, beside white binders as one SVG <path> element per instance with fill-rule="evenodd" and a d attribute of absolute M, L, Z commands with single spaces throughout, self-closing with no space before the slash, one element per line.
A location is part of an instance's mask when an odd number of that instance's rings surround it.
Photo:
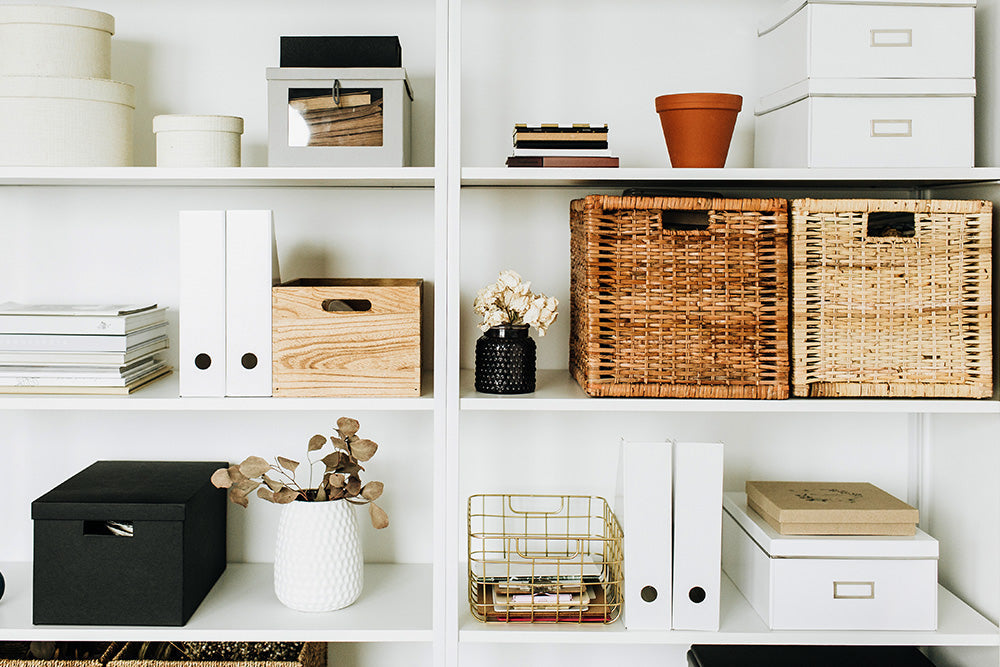
<path fill-rule="evenodd" d="M 469 497 L 469 606 L 495 623 L 612 623 L 622 529 L 596 496 Z"/>

